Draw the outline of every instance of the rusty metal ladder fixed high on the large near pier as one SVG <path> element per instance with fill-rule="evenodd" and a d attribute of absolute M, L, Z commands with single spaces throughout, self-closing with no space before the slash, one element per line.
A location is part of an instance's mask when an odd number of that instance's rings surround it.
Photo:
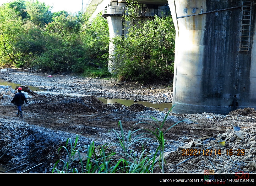
<path fill-rule="evenodd" d="M 252 48 L 252 18 L 254 0 L 242 1 L 239 51 Z"/>

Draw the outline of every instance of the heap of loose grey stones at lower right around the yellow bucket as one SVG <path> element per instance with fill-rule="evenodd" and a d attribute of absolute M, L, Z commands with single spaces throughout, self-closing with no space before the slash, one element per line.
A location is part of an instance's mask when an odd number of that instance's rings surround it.
<path fill-rule="evenodd" d="M 173 172 L 180 173 L 205 173 L 205 171 L 255 173 L 255 135 L 255 127 L 244 128 L 240 131 L 227 129 L 226 133 L 218 134 L 211 141 L 196 139 L 194 141 L 197 141 L 197 145 L 194 147 L 182 149 L 178 152 L 173 151 L 166 158 L 166 163 L 172 168 Z M 220 147 L 218 144 L 221 139 L 226 140 L 224 147 Z M 199 151 L 200 154 L 198 154 Z M 188 160 L 188 158 L 190 159 Z"/>

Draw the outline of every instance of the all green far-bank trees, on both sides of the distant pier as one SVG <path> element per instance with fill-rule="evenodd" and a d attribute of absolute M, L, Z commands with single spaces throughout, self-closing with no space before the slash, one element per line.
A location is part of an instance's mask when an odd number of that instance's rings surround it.
<path fill-rule="evenodd" d="M 140 6 L 131 3 L 130 7 Z M 115 38 L 120 80 L 167 80 L 173 74 L 174 27 L 171 16 L 151 21 L 126 16 L 127 38 Z M 107 20 L 82 12 L 51 12 L 39 1 L 16 0 L 0 6 L 0 66 L 85 76 L 108 73 Z"/>

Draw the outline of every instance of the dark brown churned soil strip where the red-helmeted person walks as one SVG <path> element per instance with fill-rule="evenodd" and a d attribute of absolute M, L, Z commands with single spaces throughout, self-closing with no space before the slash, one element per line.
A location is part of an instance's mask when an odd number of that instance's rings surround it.
<path fill-rule="evenodd" d="M 62 130 L 70 133 L 77 133 L 83 136 L 97 135 L 107 132 L 110 129 L 118 130 L 118 121 L 121 120 L 124 130 L 135 130 L 139 128 L 150 128 L 150 125 L 140 123 L 133 127 L 137 122 L 144 119 L 136 119 L 136 113 L 143 111 L 141 104 L 134 104 L 128 110 L 115 111 L 113 106 L 106 105 L 94 96 L 86 97 L 65 97 L 63 95 L 39 95 L 33 96 L 34 104 L 23 106 L 24 121 L 33 125 Z M 8 117 L 16 117 L 15 106 L 1 106 L 2 113 Z M 170 114 L 171 115 L 171 114 Z M 185 115 L 173 114 L 180 121 L 184 120 Z M 154 123 L 153 121 L 147 121 Z M 167 130 L 176 121 L 167 120 L 164 130 Z M 170 132 L 166 133 L 167 140 L 177 140 L 180 136 L 200 137 L 205 134 L 222 133 L 226 128 L 217 123 L 201 122 L 200 124 L 177 124 Z"/>

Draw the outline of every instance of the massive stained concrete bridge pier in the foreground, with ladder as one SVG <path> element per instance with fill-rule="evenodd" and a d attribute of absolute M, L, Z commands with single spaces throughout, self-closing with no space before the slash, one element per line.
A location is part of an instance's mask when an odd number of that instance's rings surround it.
<path fill-rule="evenodd" d="M 168 3 L 176 29 L 173 112 L 256 108 L 254 1 Z"/>

